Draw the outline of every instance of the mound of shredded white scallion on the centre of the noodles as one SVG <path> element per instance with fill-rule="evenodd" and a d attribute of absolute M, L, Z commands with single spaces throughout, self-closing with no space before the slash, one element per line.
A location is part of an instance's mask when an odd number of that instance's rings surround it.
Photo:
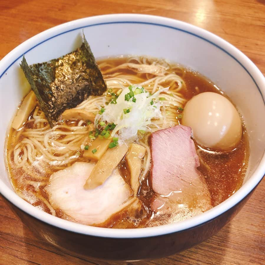
<path fill-rule="evenodd" d="M 116 100 L 117 103 L 104 104 L 105 111 L 102 114 L 97 114 L 95 118 L 98 123 L 104 121 L 116 124 L 111 136 L 114 137 L 118 134 L 119 143 L 136 140 L 138 130 L 150 131 L 149 125 L 153 124 L 152 119 L 162 117 L 159 95 L 168 90 L 168 88 L 163 88 L 150 95 L 149 92 L 136 85 L 132 85 L 130 88 L 134 92 L 134 96 L 131 96 L 129 100 L 127 96 L 127 100 L 125 100 L 130 89 L 129 87 L 124 88 Z M 126 112 L 126 110 L 129 111 Z"/>

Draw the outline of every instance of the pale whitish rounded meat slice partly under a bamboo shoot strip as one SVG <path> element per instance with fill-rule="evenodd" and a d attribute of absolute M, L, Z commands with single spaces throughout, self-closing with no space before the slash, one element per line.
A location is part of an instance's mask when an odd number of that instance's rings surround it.
<path fill-rule="evenodd" d="M 93 167 L 92 163 L 75 162 L 50 176 L 45 193 L 60 217 L 86 225 L 99 224 L 132 202 L 132 191 L 118 170 L 103 185 L 85 190 Z"/>

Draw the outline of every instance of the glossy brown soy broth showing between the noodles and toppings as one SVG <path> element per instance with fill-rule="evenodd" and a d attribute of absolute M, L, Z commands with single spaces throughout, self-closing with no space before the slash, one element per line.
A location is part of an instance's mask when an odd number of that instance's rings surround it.
<path fill-rule="evenodd" d="M 106 64 L 111 64 L 115 67 L 125 61 L 126 57 L 108 58 L 99 60 L 98 63 L 106 62 Z M 160 61 L 164 62 L 162 60 Z M 180 65 L 174 64 L 170 65 L 170 70 L 180 75 L 184 80 L 187 89 L 182 91 L 182 95 L 187 101 L 202 92 L 215 92 L 224 95 L 220 88 L 197 72 L 193 72 Z M 129 68 L 119 70 L 119 72 L 123 75 L 133 73 Z M 143 80 L 147 80 L 145 74 L 137 73 L 137 76 Z M 148 78 L 152 78 L 152 75 Z M 177 113 L 181 114 L 181 111 L 177 110 Z M 29 117 L 28 120 L 30 119 L 31 117 Z M 178 122 L 181 124 L 181 118 Z M 68 124 L 68 126 L 76 126 L 76 124 L 78 124 L 78 121 L 73 124 Z M 239 144 L 230 152 L 203 149 L 195 141 L 195 147 L 200 158 L 200 167 L 198 169 L 205 177 L 213 206 L 218 205 L 233 195 L 243 183 L 247 169 L 249 148 L 248 135 L 243 121 L 242 126 L 243 137 Z M 66 166 L 55 167 L 50 165 L 44 168 L 41 161 L 37 161 L 35 166 L 23 169 L 15 166 L 14 155 L 10 152 L 20 141 L 23 140 L 21 133 L 25 131 L 25 129 L 30 129 L 32 127 L 33 123 L 27 122 L 22 129 L 18 131 L 11 129 L 9 131 L 9 137 L 6 144 L 8 171 L 12 185 L 21 197 L 39 209 L 47 213 L 52 213 L 52 209 L 47 207 L 45 203 L 45 200 L 48 198 L 43 189 L 45 185 L 47 185 L 50 175 Z M 67 166 L 70 166 L 76 161 L 89 162 L 84 157 L 77 156 L 77 158 Z M 129 185 L 130 173 L 125 160 L 119 164 L 119 170 L 125 182 Z M 36 179 L 41 179 L 41 182 L 36 183 Z M 97 226 L 111 228 L 139 228 L 155 225 L 155 223 L 152 223 L 154 213 L 152 212 L 150 205 L 156 195 L 152 190 L 150 183 L 150 176 L 147 175 L 147 178 L 140 185 L 137 197 L 143 203 L 143 208 L 139 210 L 139 213 L 134 213 L 133 217 L 131 217 L 130 213 L 122 211 L 121 213 L 114 214 L 111 218 L 106 220 L 106 222 Z M 56 210 L 55 212 L 58 217 L 61 216 L 60 210 Z M 166 223 L 166 220 L 164 220 L 163 223 Z"/>

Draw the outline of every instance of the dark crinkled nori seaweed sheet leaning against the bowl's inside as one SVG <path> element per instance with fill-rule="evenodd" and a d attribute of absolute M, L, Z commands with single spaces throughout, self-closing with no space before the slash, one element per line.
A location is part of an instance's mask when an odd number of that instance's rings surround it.
<path fill-rule="evenodd" d="M 66 109 L 76 107 L 90 95 L 100 96 L 107 89 L 85 36 L 83 38 L 80 48 L 48 62 L 28 65 L 23 56 L 21 68 L 51 127 Z"/>

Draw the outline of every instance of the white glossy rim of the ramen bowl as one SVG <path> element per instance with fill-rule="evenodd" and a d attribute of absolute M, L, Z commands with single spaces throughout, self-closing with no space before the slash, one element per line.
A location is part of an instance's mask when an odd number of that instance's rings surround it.
<path fill-rule="evenodd" d="M 103 24 L 120 24 L 120 23 L 130 23 L 130 24 L 150 24 L 158 27 L 167 27 L 175 30 L 180 30 L 188 34 L 192 34 L 200 39 L 203 39 L 212 45 L 215 45 L 219 49 L 226 52 L 234 60 L 236 60 L 247 73 L 251 76 L 252 80 L 256 84 L 257 89 L 261 95 L 261 98 L 265 98 L 265 78 L 259 69 L 251 62 L 246 55 L 239 51 L 236 47 L 226 42 L 224 39 L 216 36 L 215 34 L 201 29 L 194 25 L 188 24 L 175 19 L 143 15 L 143 14 L 110 14 L 110 15 L 100 15 L 94 17 L 86 17 L 83 19 L 77 19 L 64 24 L 47 29 L 30 39 L 26 40 L 11 52 L 9 52 L 0 61 L 0 79 L 6 73 L 6 71 L 19 59 L 23 54 L 26 54 L 30 50 L 34 49 L 41 43 L 57 37 L 61 34 L 65 34 L 69 31 L 76 29 L 82 29 L 85 27 L 98 26 Z M 85 25 L 85 26 L 84 26 Z M 23 51 L 23 52 L 22 52 Z M 258 85 L 260 84 L 260 85 Z M 264 103 L 265 104 L 265 103 Z M 8 174 L 6 172 L 6 174 Z M 16 207 L 20 208 L 23 212 L 37 218 L 38 220 L 50 224 L 52 226 L 75 232 L 84 235 L 104 237 L 104 238 L 143 238 L 152 236 L 161 236 L 168 233 L 175 233 L 184 231 L 187 229 L 200 226 L 203 223 L 209 222 L 219 215 L 223 214 L 230 208 L 233 208 L 236 204 L 240 203 L 255 187 L 259 184 L 265 174 L 265 155 L 259 163 L 259 166 L 252 173 L 249 180 L 246 181 L 237 192 L 235 192 L 231 197 L 229 197 L 224 202 L 215 206 L 214 208 L 197 215 L 195 217 L 180 221 L 178 223 L 167 224 L 163 226 L 149 227 L 149 228 L 133 228 L 133 229 L 111 229 L 111 228 L 100 228 L 93 226 L 86 226 L 79 223 L 73 223 L 67 220 L 60 219 L 58 217 L 52 216 L 45 213 L 31 204 L 27 203 L 21 197 L 19 197 L 15 192 L 10 192 L 9 187 L 2 180 L 0 180 L 0 193 Z"/>

